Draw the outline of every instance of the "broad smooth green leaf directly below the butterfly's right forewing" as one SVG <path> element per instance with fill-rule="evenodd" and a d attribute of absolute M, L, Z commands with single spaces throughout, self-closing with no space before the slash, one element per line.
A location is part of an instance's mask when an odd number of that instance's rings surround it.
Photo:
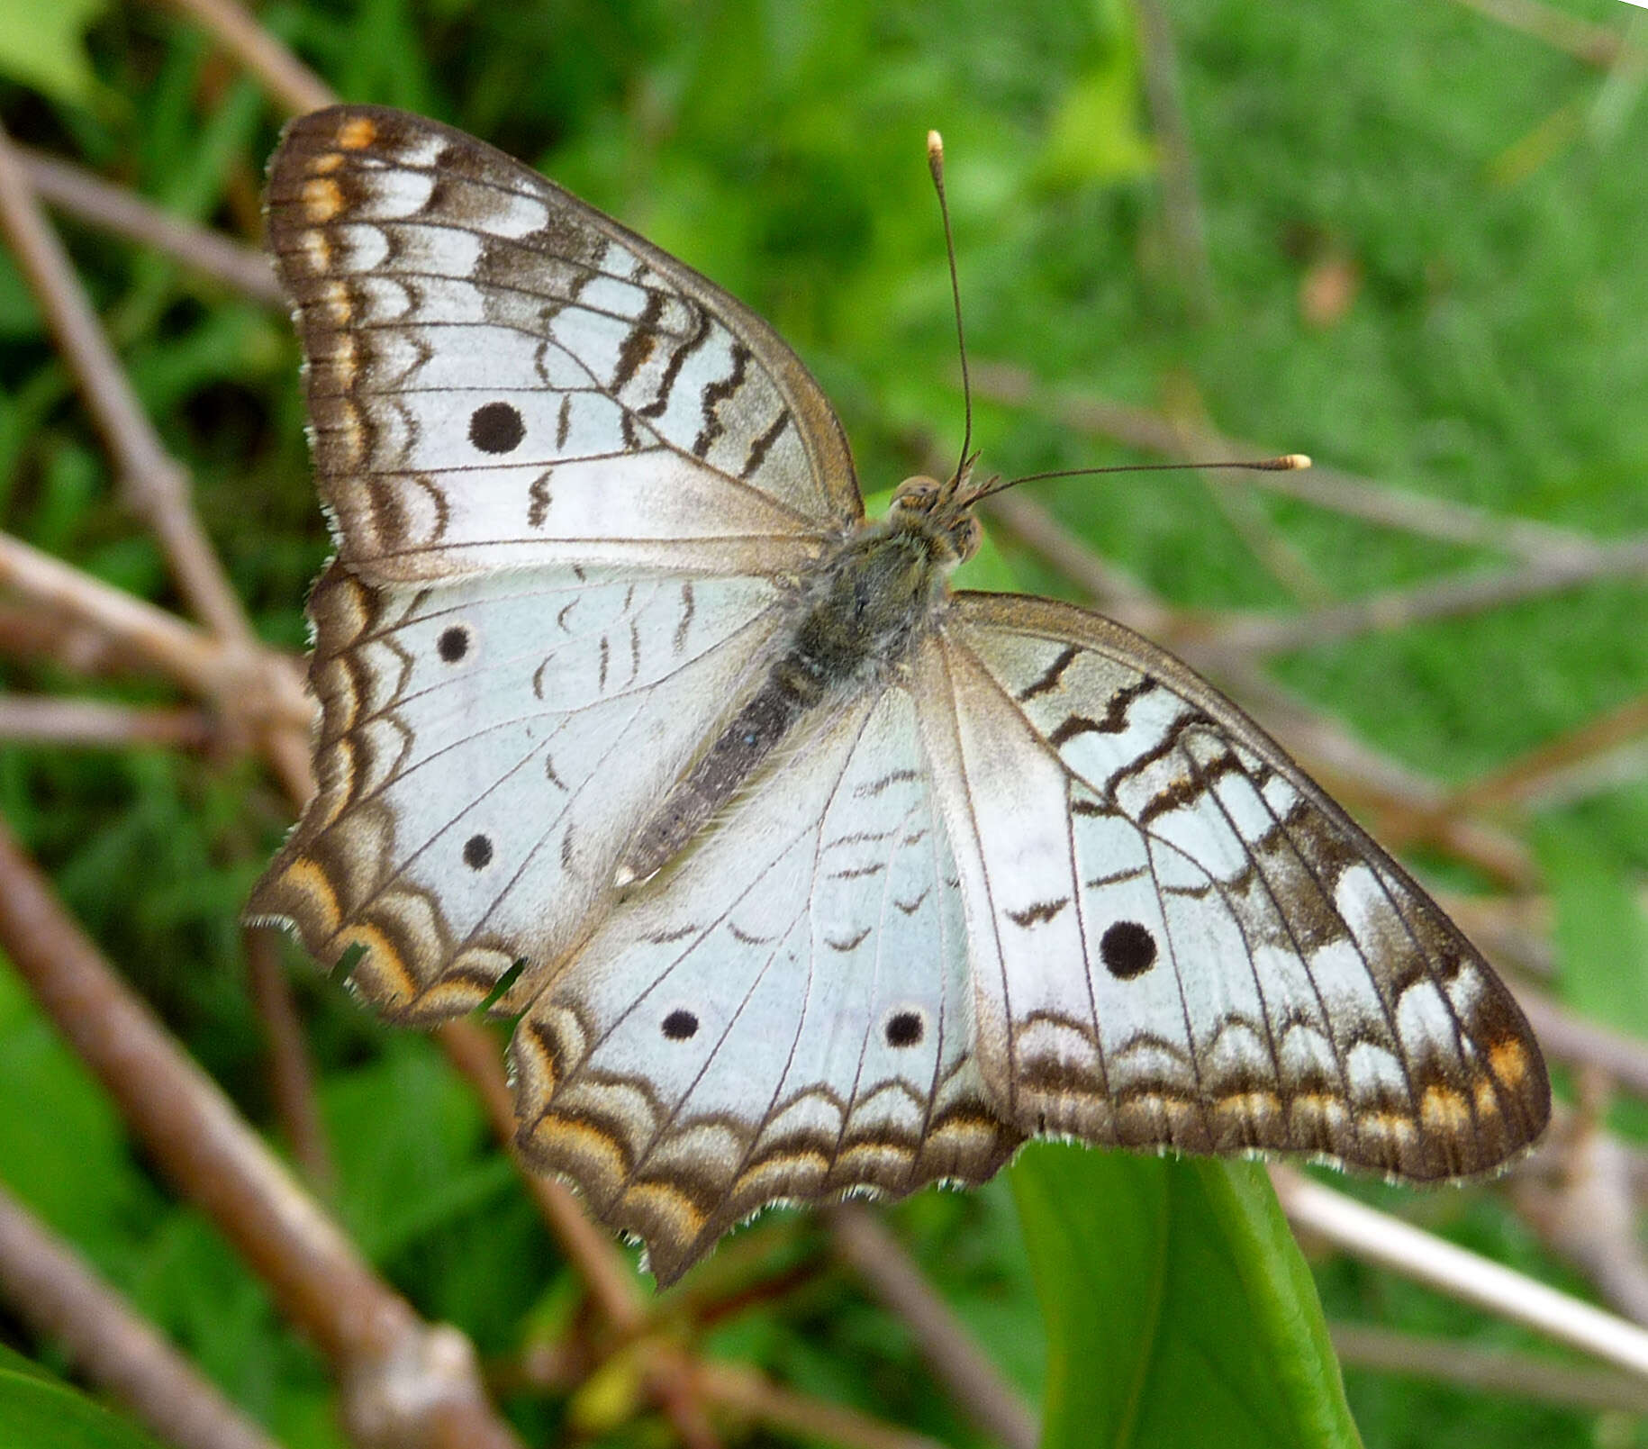
<path fill-rule="evenodd" d="M 1032 1144 L 1043 1449 L 1358 1446 L 1315 1284 L 1254 1162 Z"/>

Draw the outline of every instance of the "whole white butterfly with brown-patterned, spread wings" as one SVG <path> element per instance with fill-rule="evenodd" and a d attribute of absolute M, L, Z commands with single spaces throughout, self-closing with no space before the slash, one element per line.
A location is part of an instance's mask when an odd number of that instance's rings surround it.
<path fill-rule="evenodd" d="M 318 793 L 249 917 L 384 1015 L 519 1017 L 519 1149 L 659 1284 L 781 1200 L 1030 1136 L 1482 1174 L 1539 1047 L 1205 679 L 953 592 L 966 470 L 867 521 L 801 361 L 501 152 L 300 117 L 269 237 L 338 556 Z"/>

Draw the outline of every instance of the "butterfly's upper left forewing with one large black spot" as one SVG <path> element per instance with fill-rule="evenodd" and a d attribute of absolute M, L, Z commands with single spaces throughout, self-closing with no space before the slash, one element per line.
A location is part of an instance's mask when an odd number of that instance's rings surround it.
<path fill-rule="evenodd" d="M 267 206 L 321 498 L 368 582 L 778 575 L 862 516 L 840 424 L 765 321 L 483 142 L 316 110 Z"/>

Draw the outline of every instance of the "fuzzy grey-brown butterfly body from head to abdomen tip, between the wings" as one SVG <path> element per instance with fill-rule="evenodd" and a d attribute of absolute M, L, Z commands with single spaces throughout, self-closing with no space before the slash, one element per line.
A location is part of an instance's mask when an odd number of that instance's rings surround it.
<path fill-rule="evenodd" d="M 953 491 L 953 490 L 951 490 Z M 944 607 L 977 524 L 929 478 L 910 478 L 883 519 L 855 529 L 796 592 L 765 678 L 636 834 L 616 884 L 669 862 L 801 720 L 895 674 Z"/>

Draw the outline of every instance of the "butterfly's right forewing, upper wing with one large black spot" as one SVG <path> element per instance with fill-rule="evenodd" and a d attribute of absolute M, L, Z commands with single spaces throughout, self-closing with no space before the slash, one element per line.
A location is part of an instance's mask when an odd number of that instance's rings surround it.
<path fill-rule="evenodd" d="M 916 679 L 977 1062 L 1018 1131 L 1442 1179 L 1544 1128 L 1539 1047 L 1477 950 L 1182 663 L 962 593 Z"/>

